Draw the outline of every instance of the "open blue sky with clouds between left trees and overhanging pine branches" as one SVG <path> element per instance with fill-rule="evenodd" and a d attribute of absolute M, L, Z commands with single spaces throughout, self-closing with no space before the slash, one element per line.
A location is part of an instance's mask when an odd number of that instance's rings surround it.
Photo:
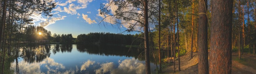
<path fill-rule="evenodd" d="M 103 26 L 100 21 L 104 15 L 99 14 L 100 4 L 107 3 L 108 0 L 53 0 L 56 2 L 56 8 L 52 11 L 52 17 L 34 13 L 31 18 L 34 19 L 34 25 L 45 27 L 52 34 L 72 34 L 74 38 L 79 34 L 88 34 L 90 32 L 110 32 L 121 33 L 126 30 L 122 26 L 110 24 Z M 137 32 L 123 34 L 136 34 Z"/>

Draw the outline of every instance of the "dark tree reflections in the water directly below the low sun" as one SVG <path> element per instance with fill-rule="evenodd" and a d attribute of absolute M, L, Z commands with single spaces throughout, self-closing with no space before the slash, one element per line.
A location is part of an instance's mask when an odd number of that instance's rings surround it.
<path fill-rule="evenodd" d="M 71 52 L 73 46 L 70 45 L 27 45 L 21 47 L 20 57 L 23 58 L 28 63 L 33 62 L 41 62 L 47 57 L 50 57 L 51 52 L 56 54 L 57 52 L 61 51 L 64 52 Z"/>

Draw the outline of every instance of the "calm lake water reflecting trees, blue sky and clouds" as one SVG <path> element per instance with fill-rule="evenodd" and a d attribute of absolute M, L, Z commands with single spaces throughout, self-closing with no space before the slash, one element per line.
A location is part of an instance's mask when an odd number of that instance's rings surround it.
<path fill-rule="evenodd" d="M 144 74 L 142 50 L 102 45 L 30 45 L 20 49 L 20 74 Z M 143 53 L 143 52 L 142 52 Z M 151 72 L 156 66 L 150 64 Z M 16 73 L 16 60 L 11 63 Z"/>

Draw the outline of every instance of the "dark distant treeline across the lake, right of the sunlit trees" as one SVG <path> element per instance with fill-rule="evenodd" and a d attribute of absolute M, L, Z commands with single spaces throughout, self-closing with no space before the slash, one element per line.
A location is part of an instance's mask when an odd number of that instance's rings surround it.
<path fill-rule="evenodd" d="M 89 33 L 80 34 L 76 38 L 78 43 L 101 43 L 101 44 L 125 44 L 130 45 L 132 41 L 137 38 L 138 35 L 131 34 L 114 34 L 114 33 Z M 137 43 L 134 43 L 135 45 Z"/>

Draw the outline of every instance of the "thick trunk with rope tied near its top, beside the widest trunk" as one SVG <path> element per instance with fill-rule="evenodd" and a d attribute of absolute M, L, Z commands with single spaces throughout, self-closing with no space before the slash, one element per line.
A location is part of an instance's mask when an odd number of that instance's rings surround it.
<path fill-rule="evenodd" d="M 206 6 L 205 6 L 206 5 Z M 199 2 L 198 19 L 198 74 L 208 74 L 207 0 Z M 201 14 L 204 13 L 204 14 Z"/>

